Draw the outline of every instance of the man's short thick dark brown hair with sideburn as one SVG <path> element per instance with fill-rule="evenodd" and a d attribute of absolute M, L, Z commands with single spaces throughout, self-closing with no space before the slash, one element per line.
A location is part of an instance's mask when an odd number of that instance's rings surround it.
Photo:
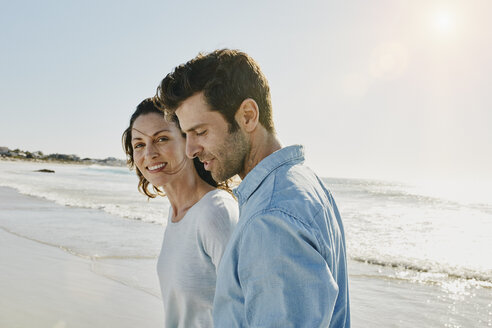
<path fill-rule="evenodd" d="M 200 53 L 162 80 L 156 98 L 159 106 L 173 113 L 197 92 L 203 92 L 211 110 L 224 116 L 229 132 L 238 129 L 234 116 L 241 103 L 251 98 L 259 107 L 261 125 L 275 133 L 268 81 L 248 54 L 230 49 Z"/>

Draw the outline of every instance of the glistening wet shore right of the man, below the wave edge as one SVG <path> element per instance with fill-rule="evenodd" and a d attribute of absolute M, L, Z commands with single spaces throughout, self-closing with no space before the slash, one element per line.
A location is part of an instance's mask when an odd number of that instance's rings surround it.
<path fill-rule="evenodd" d="M 353 327 L 492 326 L 492 288 L 388 278 L 381 275 L 384 270 L 394 269 L 349 261 Z"/>

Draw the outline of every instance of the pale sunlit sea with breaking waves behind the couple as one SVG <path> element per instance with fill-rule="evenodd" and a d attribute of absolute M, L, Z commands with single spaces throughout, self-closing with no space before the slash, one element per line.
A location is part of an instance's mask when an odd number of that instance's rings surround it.
<path fill-rule="evenodd" d="M 55 173 L 38 172 L 40 169 Z M 323 181 L 341 212 L 349 273 L 353 286 L 361 290 L 357 294 L 351 288 L 352 313 L 384 307 L 374 305 L 380 302 L 371 299 L 375 294 L 362 291 L 371 281 L 384 282 L 385 293 L 397 290 L 391 286 L 402 293 L 434 290 L 436 299 L 418 300 L 430 303 L 429 311 L 432 304 L 445 303 L 439 314 L 442 318 L 429 325 L 425 320 L 412 324 L 412 310 L 399 309 L 409 311 L 410 319 L 387 324 L 382 319 L 373 325 L 367 321 L 361 326 L 492 327 L 490 185 L 329 177 Z M 137 191 L 137 182 L 135 172 L 125 167 L 0 161 L 1 187 L 74 210 L 103 211 L 112 218 L 95 222 L 90 215 L 76 220 L 46 217 L 36 224 L 28 218 L 14 221 L 5 217 L 0 218 L 0 228 L 76 256 L 100 261 L 135 259 L 138 267 L 137 260 L 154 260 L 159 254 L 169 202 L 163 197 L 148 199 Z M 108 277 L 128 280 L 118 277 L 115 267 L 101 266 L 100 270 Z M 152 269 L 149 276 L 154 274 Z M 139 284 L 142 290 L 159 295 L 155 286 Z M 381 295 L 377 297 L 385 297 Z M 384 312 L 388 320 L 392 311 L 398 309 Z"/>

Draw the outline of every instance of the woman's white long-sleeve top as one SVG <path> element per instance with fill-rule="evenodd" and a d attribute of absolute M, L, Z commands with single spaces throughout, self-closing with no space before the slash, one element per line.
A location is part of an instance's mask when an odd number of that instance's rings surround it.
<path fill-rule="evenodd" d="M 216 271 L 238 217 L 237 202 L 219 189 L 176 223 L 170 209 L 157 262 L 166 328 L 213 327 Z"/>

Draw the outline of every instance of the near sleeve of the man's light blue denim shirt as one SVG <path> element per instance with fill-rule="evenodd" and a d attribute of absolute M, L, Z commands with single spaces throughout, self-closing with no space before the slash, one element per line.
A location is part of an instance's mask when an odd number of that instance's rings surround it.
<path fill-rule="evenodd" d="M 319 241 L 283 212 L 252 218 L 238 271 L 250 327 L 328 327 L 338 295 Z"/>

